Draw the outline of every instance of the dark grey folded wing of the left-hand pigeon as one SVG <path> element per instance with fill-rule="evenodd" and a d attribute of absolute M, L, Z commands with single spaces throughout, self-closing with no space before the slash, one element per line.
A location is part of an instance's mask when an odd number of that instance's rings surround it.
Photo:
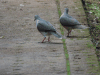
<path fill-rule="evenodd" d="M 43 32 L 56 32 L 55 28 L 52 25 L 49 25 L 45 21 L 41 21 L 37 24 L 37 29 Z"/>

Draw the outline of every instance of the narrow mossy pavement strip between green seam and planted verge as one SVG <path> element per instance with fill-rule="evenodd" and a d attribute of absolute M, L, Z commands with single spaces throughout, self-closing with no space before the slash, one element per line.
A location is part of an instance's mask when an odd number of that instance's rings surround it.
<path fill-rule="evenodd" d="M 65 7 L 69 8 L 69 15 L 76 18 L 82 25 L 88 26 L 81 0 L 60 0 L 60 6 L 62 12 Z M 66 30 L 64 32 L 67 35 Z M 100 75 L 89 29 L 74 29 L 71 37 L 66 39 L 66 47 L 71 75 Z"/>

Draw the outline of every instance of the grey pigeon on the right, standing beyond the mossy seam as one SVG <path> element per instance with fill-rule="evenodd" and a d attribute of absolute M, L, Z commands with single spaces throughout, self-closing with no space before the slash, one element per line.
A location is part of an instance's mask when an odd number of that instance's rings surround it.
<path fill-rule="evenodd" d="M 60 16 L 60 23 L 61 25 L 68 31 L 67 36 L 71 34 L 72 29 L 87 29 L 89 27 L 86 27 L 84 25 L 81 25 L 79 21 L 77 21 L 72 16 L 68 15 L 68 8 L 65 8 L 64 13 Z"/>

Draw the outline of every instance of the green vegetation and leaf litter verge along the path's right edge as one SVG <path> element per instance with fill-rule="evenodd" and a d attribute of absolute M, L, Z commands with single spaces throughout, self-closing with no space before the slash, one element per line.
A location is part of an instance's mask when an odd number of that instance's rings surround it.
<path fill-rule="evenodd" d="M 85 9 L 87 14 L 87 19 L 90 29 L 90 34 L 94 45 L 87 44 L 88 48 L 96 49 L 96 42 L 100 41 L 100 0 L 85 0 Z M 94 22 L 94 23 L 93 23 Z M 97 40 L 98 39 L 98 40 Z M 100 66 L 100 51 L 96 50 L 96 55 L 98 58 L 99 66 Z"/>

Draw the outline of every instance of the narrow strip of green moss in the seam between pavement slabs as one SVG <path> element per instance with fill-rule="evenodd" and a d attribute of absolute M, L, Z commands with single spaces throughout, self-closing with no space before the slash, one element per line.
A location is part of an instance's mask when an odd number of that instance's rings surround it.
<path fill-rule="evenodd" d="M 58 9 L 58 14 L 59 14 L 59 17 L 61 16 L 61 10 L 60 10 L 60 2 L 59 0 L 56 0 L 56 4 L 57 4 L 57 9 Z M 61 31 L 61 34 L 64 35 L 64 30 L 63 30 L 63 27 L 61 26 L 60 24 L 60 31 Z M 66 43 L 65 43 L 65 39 L 62 39 L 62 42 L 63 42 L 63 48 L 64 48 L 64 52 L 65 52 L 65 57 L 66 57 L 66 69 L 67 69 L 67 75 L 71 75 L 71 72 L 70 72 L 70 62 L 69 62 L 69 54 L 68 54 L 68 51 L 67 51 L 67 47 L 66 47 Z"/>

